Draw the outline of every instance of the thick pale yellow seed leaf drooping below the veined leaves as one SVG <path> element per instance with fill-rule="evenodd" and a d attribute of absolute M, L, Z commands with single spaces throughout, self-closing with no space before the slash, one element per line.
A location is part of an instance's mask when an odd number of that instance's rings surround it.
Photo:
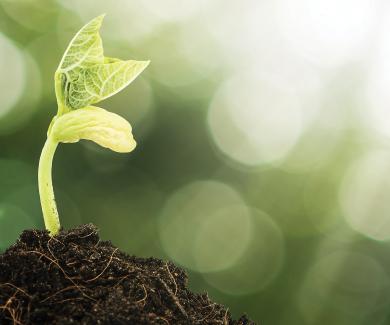
<path fill-rule="evenodd" d="M 116 152 L 131 152 L 136 147 L 132 129 L 124 118 L 103 108 L 88 106 L 57 117 L 50 136 L 58 142 L 91 140 Z"/>

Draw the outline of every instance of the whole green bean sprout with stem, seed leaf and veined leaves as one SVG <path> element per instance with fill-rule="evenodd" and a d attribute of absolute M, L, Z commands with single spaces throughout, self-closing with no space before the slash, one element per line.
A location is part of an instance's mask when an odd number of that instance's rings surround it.
<path fill-rule="evenodd" d="M 99 35 L 103 18 L 96 17 L 80 29 L 54 74 L 58 111 L 50 123 L 38 168 L 43 218 L 52 236 L 60 229 L 51 176 L 58 144 L 86 139 L 116 152 L 131 152 L 136 146 L 125 119 L 91 105 L 125 88 L 149 61 L 105 57 Z"/>

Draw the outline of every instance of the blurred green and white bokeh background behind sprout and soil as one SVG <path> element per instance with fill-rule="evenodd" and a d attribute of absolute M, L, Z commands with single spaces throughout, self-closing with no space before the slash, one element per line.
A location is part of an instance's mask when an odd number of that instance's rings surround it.
<path fill-rule="evenodd" d="M 138 147 L 59 147 L 63 226 L 176 262 L 235 317 L 390 324 L 386 0 L 0 0 L 0 249 L 43 228 L 53 74 L 101 13 L 106 55 L 152 61 L 99 104 Z"/>

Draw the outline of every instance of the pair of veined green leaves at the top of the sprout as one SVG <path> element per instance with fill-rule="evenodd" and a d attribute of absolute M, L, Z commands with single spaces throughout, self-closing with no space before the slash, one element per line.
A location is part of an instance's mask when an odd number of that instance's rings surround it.
<path fill-rule="evenodd" d="M 149 64 L 105 57 L 99 35 L 103 18 L 101 15 L 86 24 L 65 51 L 55 75 L 58 115 L 116 94 Z"/>

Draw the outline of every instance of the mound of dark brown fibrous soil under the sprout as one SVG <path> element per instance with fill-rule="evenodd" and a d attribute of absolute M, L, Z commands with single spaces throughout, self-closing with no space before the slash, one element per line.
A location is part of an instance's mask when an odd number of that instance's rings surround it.
<path fill-rule="evenodd" d="M 0 255 L 0 324 L 254 324 L 187 288 L 170 262 L 122 253 L 85 225 L 24 231 Z"/>

